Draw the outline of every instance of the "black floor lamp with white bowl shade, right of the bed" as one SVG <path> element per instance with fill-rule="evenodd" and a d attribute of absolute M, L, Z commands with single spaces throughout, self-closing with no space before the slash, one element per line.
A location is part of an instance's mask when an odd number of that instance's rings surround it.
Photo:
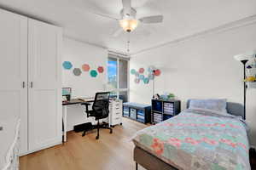
<path fill-rule="evenodd" d="M 246 65 L 248 60 L 253 59 L 254 54 L 238 54 L 234 58 L 238 61 L 241 61 L 243 65 L 243 80 L 246 79 Z M 246 105 L 247 105 L 247 83 L 243 82 L 243 108 L 244 108 L 244 119 L 246 119 Z"/>

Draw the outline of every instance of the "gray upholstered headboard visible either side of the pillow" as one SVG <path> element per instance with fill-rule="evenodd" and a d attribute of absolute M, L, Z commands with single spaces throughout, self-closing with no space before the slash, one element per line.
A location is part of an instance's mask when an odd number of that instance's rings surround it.
<path fill-rule="evenodd" d="M 190 99 L 187 102 L 187 108 L 189 108 Z M 244 119 L 243 105 L 234 102 L 227 102 L 227 111 L 231 115 L 241 116 Z"/>

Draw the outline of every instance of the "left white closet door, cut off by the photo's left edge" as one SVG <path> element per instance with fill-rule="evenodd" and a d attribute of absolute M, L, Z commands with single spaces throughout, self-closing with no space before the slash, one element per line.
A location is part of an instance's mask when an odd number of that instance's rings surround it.
<path fill-rule="evenodd" d="M 21 118 L 20 149 L 26 152 L 27 18 L 0 9 L 0 23 L 0 120 Z"/>

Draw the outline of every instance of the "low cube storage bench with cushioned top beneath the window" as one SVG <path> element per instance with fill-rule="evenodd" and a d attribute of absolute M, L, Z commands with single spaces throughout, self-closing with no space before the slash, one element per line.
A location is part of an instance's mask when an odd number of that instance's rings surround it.
<path fill-rule="evenodd" d="M 127 102 L 123 104 L 123 116 L 137 122 L 150 122 L 151 105 Z"/>

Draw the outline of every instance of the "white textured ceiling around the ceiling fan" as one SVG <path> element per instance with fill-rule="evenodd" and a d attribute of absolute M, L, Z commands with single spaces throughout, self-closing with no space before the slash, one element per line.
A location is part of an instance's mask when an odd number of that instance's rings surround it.
<path fill-rule="evenodd" d="M 121 0 L 0 0 L 0 6 L 63 27 L 67 37 L 125 52 L 127 34 L 119 29 Z M 133 0 L 137 17 L 163 14 L 162 24 L 140 24 L 131 32 L 131 53 L 256 14 L 255 0 Z"/>

